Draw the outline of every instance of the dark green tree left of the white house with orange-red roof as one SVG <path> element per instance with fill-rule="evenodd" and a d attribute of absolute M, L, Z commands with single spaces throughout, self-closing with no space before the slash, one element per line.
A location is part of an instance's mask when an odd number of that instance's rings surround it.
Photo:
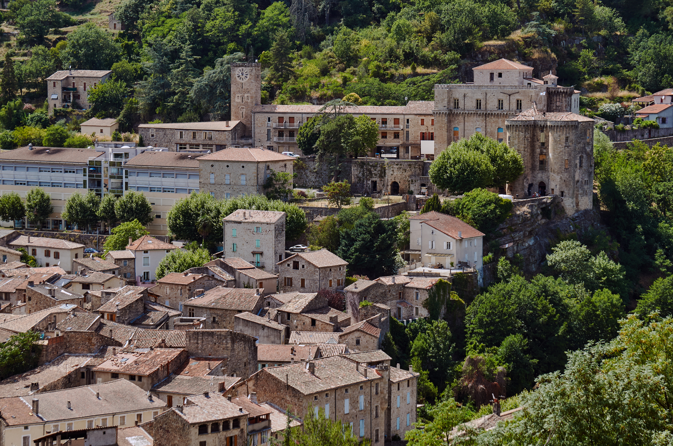
<path fill-rule="evenodd" d="M 353 230 L 341 234 L 341 242 L 336 255 L 349 263 L 348 271 L 377 278 L 395 274 L 396 247 L 395 222 L 380 220 L 370 213 L 357 220 Z"/>

